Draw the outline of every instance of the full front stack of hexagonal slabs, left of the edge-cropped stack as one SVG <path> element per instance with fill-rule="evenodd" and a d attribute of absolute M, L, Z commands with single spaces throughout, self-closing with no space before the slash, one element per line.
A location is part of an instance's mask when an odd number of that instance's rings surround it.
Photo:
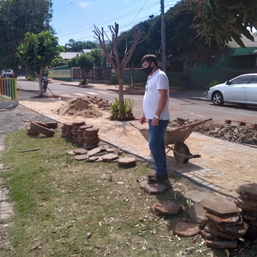
<path fill-rule="evenodd" d="M 216 248 L 235 248 L 240 236 L 248 229 L 240 218 L 236 205 L 228 200 L 209 197 L 204 200 L 207 226 L 201 234 L 206 238 L 206 245 Z"/>

